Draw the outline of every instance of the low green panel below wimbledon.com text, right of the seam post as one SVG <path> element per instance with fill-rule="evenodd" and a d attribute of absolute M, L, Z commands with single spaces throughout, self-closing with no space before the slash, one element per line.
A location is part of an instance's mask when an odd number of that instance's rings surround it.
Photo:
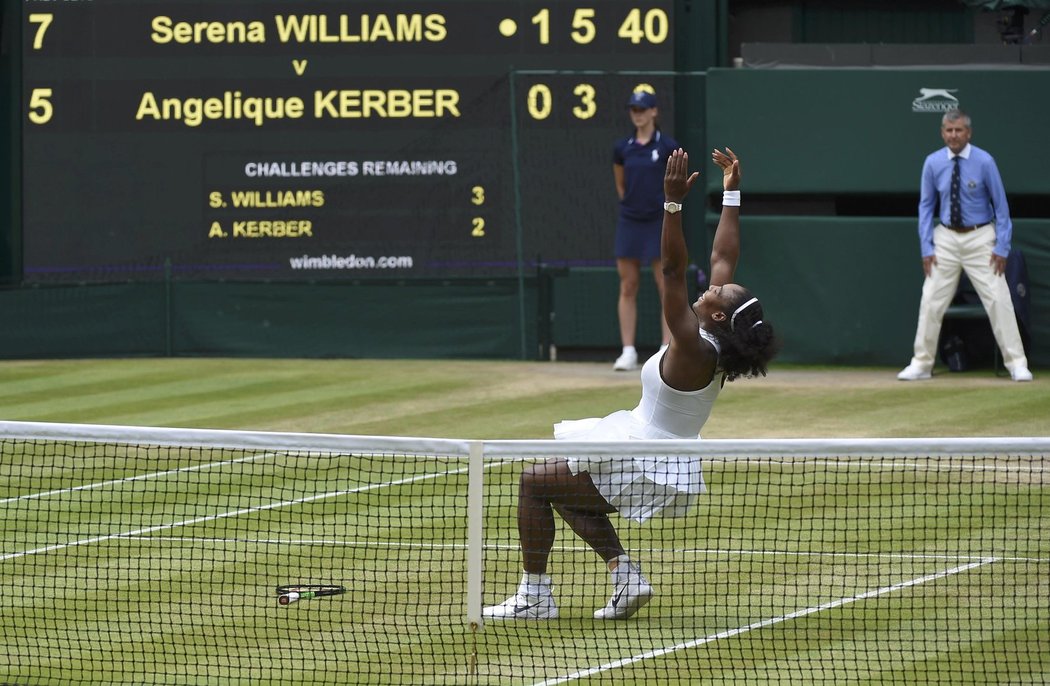
<path fill-rule="evenodd" d="M 527 308 L 532 325 L 533 295 Z M 173 310 L 184 355 L 522 357 L 518 284 L 509 279 L 182 284 Z M 534 351 L 532 337 L 527 355 Z"/>

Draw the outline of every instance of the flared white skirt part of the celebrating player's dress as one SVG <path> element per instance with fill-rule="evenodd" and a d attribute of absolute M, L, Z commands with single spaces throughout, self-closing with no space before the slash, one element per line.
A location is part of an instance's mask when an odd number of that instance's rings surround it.
<path fill-rule="evenodd" d="M 570 419 L 554 424 L 559 440 L 637 440 L 679 438 L 650 427 L 621 410 L 607 417 Z M 689 456 L 569 457 L 573 474 L 587 472 L 598 493 L 622 516 L 644 522 L 650 517 L 684 517 L 697 496 L 707 493 L 700 460 Z"/>

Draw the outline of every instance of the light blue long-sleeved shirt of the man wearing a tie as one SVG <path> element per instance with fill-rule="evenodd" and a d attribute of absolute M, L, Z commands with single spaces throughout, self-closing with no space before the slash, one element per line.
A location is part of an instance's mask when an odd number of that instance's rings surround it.
<path fill-rule="evenodd" d="M 962 185 L 959 190 L 963 210 L 963 226 L 981 226 L 995 223 L 996 255 L 1010 254 L 1013 224 L 1010 223 L 1010 207 L 1006 203 L 1006 189 L 999 175 L 995 160 L 975 145 L 966 144 L 959 153 L 959 173 Z M 930 153 L 922 166 L 922 185 L 919 195 L 919 245 L 922 256 L 933 254 L 933 227 L 937 221 L 950 224 L 951 171 L 956 163 L 951 150 L 943 147 Z M 934 217 L 934 211 L 939 217 Z"/>

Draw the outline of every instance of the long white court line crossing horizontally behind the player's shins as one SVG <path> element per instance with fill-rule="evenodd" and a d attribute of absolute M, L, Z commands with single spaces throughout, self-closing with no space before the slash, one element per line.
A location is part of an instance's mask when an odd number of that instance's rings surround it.
<path fill-rule="evenodd" d="M 333 538 L 217 538 L 207 536 L 126 536 L 124 538 L 158 543 L 246 543 L 251 545 L 341 545 L 345 547 L 372 548 L 423 548 L 428 550 L 465 549 L 466 543 L 413 543 L 404 541 L 349 541 Z M 517 543 L 486 543 L 486 550 L 520 550 Z M 560 553 L 590 553 L 586 545 L 555 545 L 551 548 Z M 928 555 L 923 553 L 820 553 L 813 550 L 744 550 L 717 548 L 628 548 L 628 553 L 657 553 L 670 555 L 696 555 L 712 557 L 799 557 L 799 558 L 844 558 L 848 560 L 939 560 L 954 562 L 981 562 L 988 555 Z M 1028 558 L 996 556 L 1000 562 L 1050 563 L 1050 558 Z"/>

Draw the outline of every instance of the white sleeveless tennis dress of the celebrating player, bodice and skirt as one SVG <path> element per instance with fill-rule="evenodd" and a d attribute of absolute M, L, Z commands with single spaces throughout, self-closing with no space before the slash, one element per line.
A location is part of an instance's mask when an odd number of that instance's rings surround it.
<path fill-rule="evenodd" d="M 704 329 L 700 336 L 718 351 L 717 339 Z M 676 391 L 659 374 L 665 350 L 642 367 L 642 400 L 633 410 L 606 417 L 570 419 L 554 424 L 559 440 L 652 440 L 699 438 L 721 389 L 715 374 L 699 391 Z M 573 474 L 587 472 L 591 481 L 621 515 L 644 522 L 653 515 L 681 517 L 705 493 L 699 458 L 658 456 L 618 459 L 578 457 L 568 459 Z"/>

